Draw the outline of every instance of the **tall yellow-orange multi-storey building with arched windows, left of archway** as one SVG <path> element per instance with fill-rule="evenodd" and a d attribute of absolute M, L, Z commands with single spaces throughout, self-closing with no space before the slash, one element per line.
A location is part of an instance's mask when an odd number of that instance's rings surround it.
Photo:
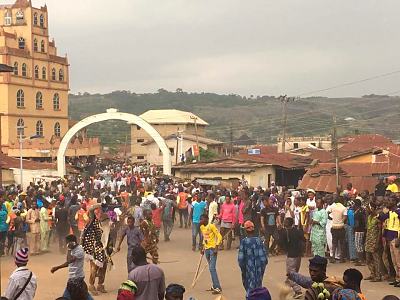
<path fill-rule="evenodd" d="M 47 6 L 0 5 L 0 63 L 14 68 L 0 75 L 1 150 L 19 156 L 19 137 L 35 136 L 35 143 L 23 143 L 22 156 L 55 156 L 69 128 L 69 64 L 49 38 Z M 85 154 L 99 151 L 97 144 Z"/>

